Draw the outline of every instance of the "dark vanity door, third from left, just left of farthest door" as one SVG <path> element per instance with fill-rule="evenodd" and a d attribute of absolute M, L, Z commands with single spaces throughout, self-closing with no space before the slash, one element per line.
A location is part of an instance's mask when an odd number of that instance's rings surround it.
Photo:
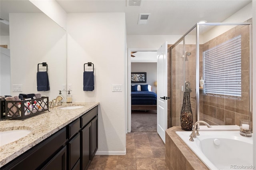
<path fill-rule="evenodd" d="M 90 162 L 91 162 L 91 133 L 92 133 L 92 123 L 89 123 L 86 127 L 82 129 L 81 133 L 81 143 L 82 143 L 82 170 L 85 170 L 88 168 Z"/>

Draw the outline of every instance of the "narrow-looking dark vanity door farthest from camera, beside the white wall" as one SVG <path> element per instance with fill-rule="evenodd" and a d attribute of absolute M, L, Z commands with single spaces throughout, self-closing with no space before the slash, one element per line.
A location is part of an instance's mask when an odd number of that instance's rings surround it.
<path fill-rule="evenodd" d="M 98 150 L 98 116 L 96 116 L 92 120 L 92 156 L 91 156 L 91 160 L 97 150 Z"/>

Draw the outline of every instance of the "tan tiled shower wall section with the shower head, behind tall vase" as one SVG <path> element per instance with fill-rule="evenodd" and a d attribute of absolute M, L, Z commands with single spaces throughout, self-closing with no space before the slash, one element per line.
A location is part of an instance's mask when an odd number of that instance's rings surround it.
<path fill-rule="evenodd" d="M 196 114 L 196 45 L 186 45 L 186 51 L 191 52 L 188 61 L 185 61 L 185 80 L 190 82 L 190 103 L 193 122 L 197 120 Z M 172 50 L 172 126 L 180 126 L 180 111 L 183 103 L 183 45 L 176 45 Z"/>

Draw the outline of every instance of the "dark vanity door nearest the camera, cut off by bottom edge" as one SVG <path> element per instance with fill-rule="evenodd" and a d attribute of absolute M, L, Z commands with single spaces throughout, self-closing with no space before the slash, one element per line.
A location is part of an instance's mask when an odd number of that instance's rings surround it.
<path fill-rule="evenodd" d="M 42 169 L 43 170 L 66 170 L 67 147 L 64 146 Z"/>

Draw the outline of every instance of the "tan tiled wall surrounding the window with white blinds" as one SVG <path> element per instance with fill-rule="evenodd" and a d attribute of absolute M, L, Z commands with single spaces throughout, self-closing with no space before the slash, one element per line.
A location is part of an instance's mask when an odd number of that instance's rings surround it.
<path fill-rule="evenodd" d="M 225 95 L 203 94 L 200 90 L 200 120 L 210 125 L 240 125 L 240 119 L 252 121 L 250 113 L 250 40 L 249 26 L 236 26 L 224 34 L 204 43 L 200 46 L 200 65 L 202 65 L 202 52 L 231 38 L 241 35 L 241 59 L 242 59 L 242 97 Z M 202 66 L 200 67 L 202 76 Z"/>

